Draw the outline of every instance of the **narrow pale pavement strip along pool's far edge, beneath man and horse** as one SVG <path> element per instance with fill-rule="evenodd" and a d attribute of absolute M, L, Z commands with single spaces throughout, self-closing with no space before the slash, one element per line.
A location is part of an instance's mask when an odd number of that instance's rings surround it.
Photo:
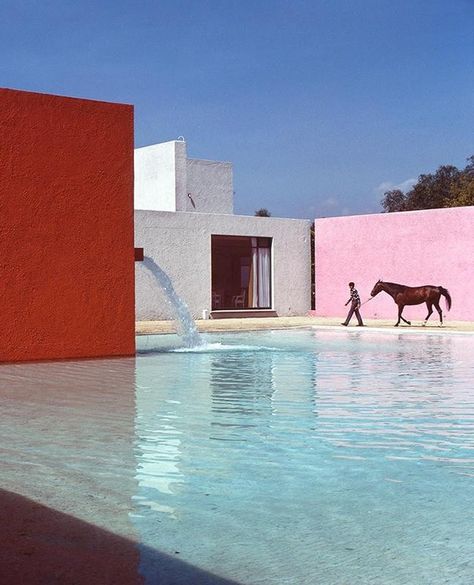
<path fill-rule="evenodd" d="M 369 329 L 384 329 L 393 331 L 434 331 L 434 332 L 459 332 L 473 333 L 474 323 L 471 321 L 449 321 L 447 320 L 442 328 L 439 321 L 432 321 L 426 327 L 420 322 L 413 322 L 411 326 L 403 325 L 394 327 L 394 320 L 365 320 L 366 328 L 358 329 L 364 331 Z M 261 329 L 288 329 L 295 327 L 324 327 L 345 329 L 341 325 L 341 318 L 336 317 L 259 317 L 245 319 L 208 319 L 197 320 L 197 328 L 200 332 L 212 331 L 257 331 Z M 351 323 L 349 329 L 356 326 Z M 163 333 L 174 333 L 176 323 L 174 321 L 138 321 L 136 323 L 137 335 L 155 335 Z"/>

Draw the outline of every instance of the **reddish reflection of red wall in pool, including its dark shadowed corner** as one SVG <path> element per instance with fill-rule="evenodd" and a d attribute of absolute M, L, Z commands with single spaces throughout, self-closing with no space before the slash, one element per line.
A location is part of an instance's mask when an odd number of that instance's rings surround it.
<path fill-rule="evenodd" d="M 135 360 L 0 366 L 0 582 L 141 583 Z"/>

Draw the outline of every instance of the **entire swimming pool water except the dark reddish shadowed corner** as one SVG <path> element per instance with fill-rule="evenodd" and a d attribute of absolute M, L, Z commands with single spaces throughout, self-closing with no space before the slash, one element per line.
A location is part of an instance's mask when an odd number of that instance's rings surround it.
<path fill-rule="evenodd" d="M 138 341 L 2 367 L 8 489 L 133 532 L 147 584 L 474 582 L 474 336 Z"/>

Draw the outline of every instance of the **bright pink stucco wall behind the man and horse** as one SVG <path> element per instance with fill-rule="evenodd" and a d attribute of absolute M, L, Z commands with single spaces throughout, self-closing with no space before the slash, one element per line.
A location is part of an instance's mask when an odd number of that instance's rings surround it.
<path fill-rule="evenodd" d="M 317 219 L 315 227 L 317 315 L 345 315 L 350 280 L 365 301 L 382 278 L 444 286 L 453 299 L 449 313 L 441 301 L 446 318 L 474 321 L 474 207 Z M 395 318 L 397 308 L 380 293 L 362 312 Z M 423 320 L 426 305 L 406 307 L 403 315 Z"/>

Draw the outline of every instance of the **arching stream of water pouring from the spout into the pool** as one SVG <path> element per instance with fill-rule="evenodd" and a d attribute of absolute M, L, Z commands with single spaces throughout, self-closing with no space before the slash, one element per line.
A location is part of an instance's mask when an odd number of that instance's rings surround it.
<path fill-rule="evenodd" d="M 183 338 L 185 346 L 196 347 L 202 345 L 203 341 L 197 330 L 196 323 L 189 312 L 188 306 L 175 291 L 170 277 L 148 256 L 144 257 L 143 266 L 153 274 L 165 292 L 168 303 L 176 314 L 177 333 Z"/>

